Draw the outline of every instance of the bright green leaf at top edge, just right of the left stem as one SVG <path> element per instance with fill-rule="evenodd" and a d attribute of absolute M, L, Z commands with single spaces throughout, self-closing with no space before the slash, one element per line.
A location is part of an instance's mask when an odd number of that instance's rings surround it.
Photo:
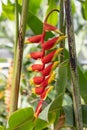
<path fill-rule="evenodd" d="M 36 2 L 35 2 L 35 0 L 30 0 L 30 2 L 29 2 L 29 11 L 36 14 L 39 7 L 40 7 L 41 2 L 42 2 L 42 0 L 37 0 Z"/>

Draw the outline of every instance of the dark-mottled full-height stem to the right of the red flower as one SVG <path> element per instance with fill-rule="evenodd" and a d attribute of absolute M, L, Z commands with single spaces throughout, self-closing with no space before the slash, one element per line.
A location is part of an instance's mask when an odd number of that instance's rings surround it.
<path fill-rule="evenodd" d="M 72 83 L 73 83 L 72 91 L 73 91 L 73 105 L 74 105 L 74 113 L 75 113 L 75 120 L 76 120 L 76 128 L 77 130 L 83 130 L 82 108 L 81 108 L 78 73 L 77 73 L 75 36 L 74 36 L 73 21 L 71 17 L 70 0 L 65 0 L 65 12 L 66 12 L 66 24 L 67 24 L 67 33 L 68 33 L 68 46 L 69 46 L 69 54 L 70 54 L 70 69 L 71 69 L 71 76 L 72 76 Z"/>

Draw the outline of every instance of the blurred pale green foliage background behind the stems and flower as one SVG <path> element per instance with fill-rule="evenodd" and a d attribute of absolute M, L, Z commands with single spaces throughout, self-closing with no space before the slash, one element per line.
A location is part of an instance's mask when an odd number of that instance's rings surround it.
<path fill-rule="evenodd" d="M 19 17 L 21 12 L 22 0 L 19 3 Z M 59 0 L 30 0 L 28 9 L 28 21 L 26 29 L 26 37 L 42 32 L 42 22 L 46 14 L 54 9 L 60 8 Z M 78 61 L 79 85 L 81 91 L 82 104 L 87 103 L 87 0 L 72 0 L 72 16 L 74 22 L 76 51 Z M 58 14 L 53 13 L 48 22 L 59 27 Z M 52 33 L 48 34 L 50 37 Z M 8 117 L 8 98 L 9 90 L 12 83 L 12 64 L 14 56 L 14 42 L 15 42 L 15 1 L 14 0 L 0 0 L 0 125 L 5 125 Z M 68 46 L 66 40 L 66 49 L 64 58 L 69 59 Z M 29 79 L 34 77 L 34 72 L 27 70 L 28 66 L 32 64 L 33 60 L 27 59 L 26 55 L 31 51 L 38 51 L 38 45 L 25 45 L 23 52 L 23 65 L 20 83 L 20 98 L 19 107 L 24 108 L 33 106 L 35 108 L 37 101 L 36 95 L 31 93 L 32 85 Z M 72 90 L 69 66 L 67 69 L 66 89 L 63 98 L 64 105 L 72 105 Z M 58 71 L 58 70 L 56 70 Z M 60 70 L 62 71 L 62 70 Z M 65 70 L 64 70 L 65 72 Z M 62 72 L 63 73 L 63 72 Z M 62 81 L 62 80 L 61 80 Z M 55 83 L 53 83 L 55 85 Z M 60 81 L 59 81 L 60 85 Z M 57 86 L 58 89 L 58 86 Z M 61 91 L 61 90 L 58 90 Z M 52 91 L 44 106 L 46 107 L 54 98 L 55 90 Z M 61 104 L 61 103 L 60 103 Z M 51 108 L 53 109 L 53 108 Z"/>

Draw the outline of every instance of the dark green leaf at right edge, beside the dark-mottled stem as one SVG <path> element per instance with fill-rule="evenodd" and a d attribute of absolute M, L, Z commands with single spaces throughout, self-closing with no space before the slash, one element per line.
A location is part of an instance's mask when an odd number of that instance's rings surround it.
<path fill-rule="evenodd" d="M 78 65 L 78 73 L 79 73 L 79 86 L 80 93 L 85 103 L 87 103 L 87 79 L 85 78 L 85 74 L 80 65 Z"/>

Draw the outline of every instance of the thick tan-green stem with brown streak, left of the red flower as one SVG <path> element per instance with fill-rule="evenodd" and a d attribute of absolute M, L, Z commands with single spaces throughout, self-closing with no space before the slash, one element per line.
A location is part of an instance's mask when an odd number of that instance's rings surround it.
<path fill-rule="evenodd" d="M 13 77 L 13 86 L 12 86 L 12 95 L 11 95 L 11 107 L 10 114 L 17 110 L 18 108 L 18 96 L 19 96 L 19 86 L 20 86 L 20 76 L 21 76 L 21 66 L 22 66 L 22 57 L 23 57 L 23 46 L 24 46 L 24 36 L 26 29 L 26 20 L 28 13 L 28 4 L 29 0 L 23 0 L 22 4 L 22 14 L 20 22 L 20 30 L 18 33 L 17 41 L 17 57 L 15 66 L 15 72 Z"/>

